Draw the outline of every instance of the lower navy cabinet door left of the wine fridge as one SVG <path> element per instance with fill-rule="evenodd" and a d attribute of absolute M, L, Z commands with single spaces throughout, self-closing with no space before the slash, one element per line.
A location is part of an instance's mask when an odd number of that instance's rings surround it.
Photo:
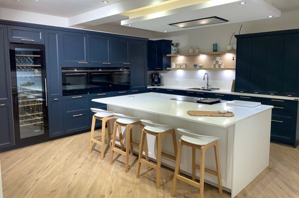
<path fill-rule="evenodd" d="M 11 102 L 0 103 L 0 148 L 15 145 L 13 138 L 13 107 Z"/>

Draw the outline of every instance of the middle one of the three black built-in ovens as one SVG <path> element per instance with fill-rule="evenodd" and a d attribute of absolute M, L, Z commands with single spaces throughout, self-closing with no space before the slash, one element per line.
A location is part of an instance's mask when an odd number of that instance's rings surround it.
<path fill-rule="evenodd" d="M 89 67 L 89 93 L 111 92 L 111 67 Z"/>

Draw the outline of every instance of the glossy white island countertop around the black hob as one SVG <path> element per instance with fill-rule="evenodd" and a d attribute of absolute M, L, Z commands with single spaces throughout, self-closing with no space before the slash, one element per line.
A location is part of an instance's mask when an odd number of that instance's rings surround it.
<path fill-rule="evenodd" d="M 129 96 L 135 96 L 129 98 Z M 226 105 L 226 102 L 205 105 L 193 102 L 183 102 L 170 100 L 171 98 L 180 97 L 178 95 L 164 93 L 139 93 L 126 96 L 115 96 L 109 98 L 92 99 L 93 102 L 100 102 L 107 105 L 114 105 L 134 110 L 141 110 L 158 115 L 170 116 L 178 119 L 184 119 L 191 122 L 198 122 L 206 125 L 226 128 L 234 125 L 243 119 L 254 114 L 273 108 L 269 105 L 260 105 L 254 108 Z M 204 117 L 189 116 L 189 110 L 218 111 L 219 109 L 233 110 L 233 117 Z M 117 112 L 116 112 L 117 113 Z"/>

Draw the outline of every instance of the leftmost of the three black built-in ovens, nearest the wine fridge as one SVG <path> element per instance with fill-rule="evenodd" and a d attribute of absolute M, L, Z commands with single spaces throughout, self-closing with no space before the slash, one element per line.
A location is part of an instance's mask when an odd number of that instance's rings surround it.
<path fill-rule="evenodd" d="M 88 68 L 62 67 L 62 95 L 88 94 Z"/>

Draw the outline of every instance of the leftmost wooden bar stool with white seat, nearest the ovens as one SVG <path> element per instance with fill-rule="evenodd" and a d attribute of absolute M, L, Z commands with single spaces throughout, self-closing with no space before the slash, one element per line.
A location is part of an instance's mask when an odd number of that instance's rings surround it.
<path fill-rule="evenodd" d="M 95 114 L 92 116 L 91 122 L 91 133 L 90 133 L 90 143 L 89 143 L 89 153 L 91 153 L 92 143 L 101 145 L 101 159 L 104 159 L 104 145 L 105 145 L 105 130 L 107 122 L 107 131 L 108 131 L 108 145 L 111 147 L 111 130 L 110 130 L 110 120 L 115 119 L 112 111 L 106 111 L 103 109 L 90 108 Z M 102 140 L 98 141 L 94 139 L 94 126 L 96 119 L 102 120 Z M 121 139 L 121 137 L 120 137 Z"/>

